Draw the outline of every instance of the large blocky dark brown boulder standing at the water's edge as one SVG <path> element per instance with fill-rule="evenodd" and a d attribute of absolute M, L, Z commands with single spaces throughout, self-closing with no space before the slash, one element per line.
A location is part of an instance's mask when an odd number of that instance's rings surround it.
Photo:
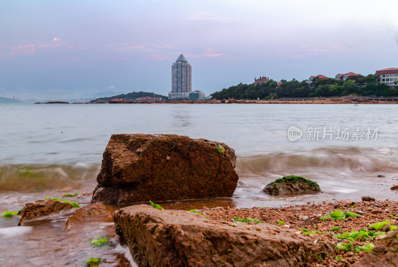
<path fill-rule="evenodd" d="M 235 151 L 223 143 L 179 135 L 114 134 L 103 153 L 92 202 L 231 197 Z"/>

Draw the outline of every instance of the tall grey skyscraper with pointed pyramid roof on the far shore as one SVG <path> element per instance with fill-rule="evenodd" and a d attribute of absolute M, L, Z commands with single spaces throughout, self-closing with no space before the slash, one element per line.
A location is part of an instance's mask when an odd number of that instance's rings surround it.
<path fill-rule="evenodd" d="M 187 59 L 181 54 L 172 66 L 172 87 L 169 99 L 189 99 L 192 91 L 192 69 Z"/>

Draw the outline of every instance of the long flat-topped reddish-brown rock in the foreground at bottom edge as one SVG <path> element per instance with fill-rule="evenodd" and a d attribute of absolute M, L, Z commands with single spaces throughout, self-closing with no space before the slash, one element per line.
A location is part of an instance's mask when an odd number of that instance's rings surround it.
<path fill-rule="evenodd" d="M 333 253 L 333 246 L 292 230 L 266 223 L 232 226 L 183 210 L 135 205 L 115 212 L 113 220 L 141 267 L 301 267 Z"/>

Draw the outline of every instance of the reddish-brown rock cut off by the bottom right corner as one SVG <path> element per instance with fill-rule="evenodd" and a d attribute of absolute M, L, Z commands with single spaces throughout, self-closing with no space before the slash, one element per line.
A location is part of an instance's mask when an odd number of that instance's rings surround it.
<path fill-rule="evenodd" d="M 398 230 L 387 235 L 372 250 L 362 257 L 353 267 L 397 267 L 398 266 Z"/>

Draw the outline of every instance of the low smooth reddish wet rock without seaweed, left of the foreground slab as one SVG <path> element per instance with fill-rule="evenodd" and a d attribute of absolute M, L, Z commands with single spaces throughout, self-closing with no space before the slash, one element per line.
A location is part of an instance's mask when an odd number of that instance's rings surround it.
<path fill-rule="evenodd" d="M 113 210 L 102 203 L 91 203 L 84 207 L 76 209 L 71 216 L 69 216 L 65 225 L 68 227 L 71 224 L 81 223 L 83 221 L 95 218 L 103 218 L 105 221 L 112 220 Z"/>

